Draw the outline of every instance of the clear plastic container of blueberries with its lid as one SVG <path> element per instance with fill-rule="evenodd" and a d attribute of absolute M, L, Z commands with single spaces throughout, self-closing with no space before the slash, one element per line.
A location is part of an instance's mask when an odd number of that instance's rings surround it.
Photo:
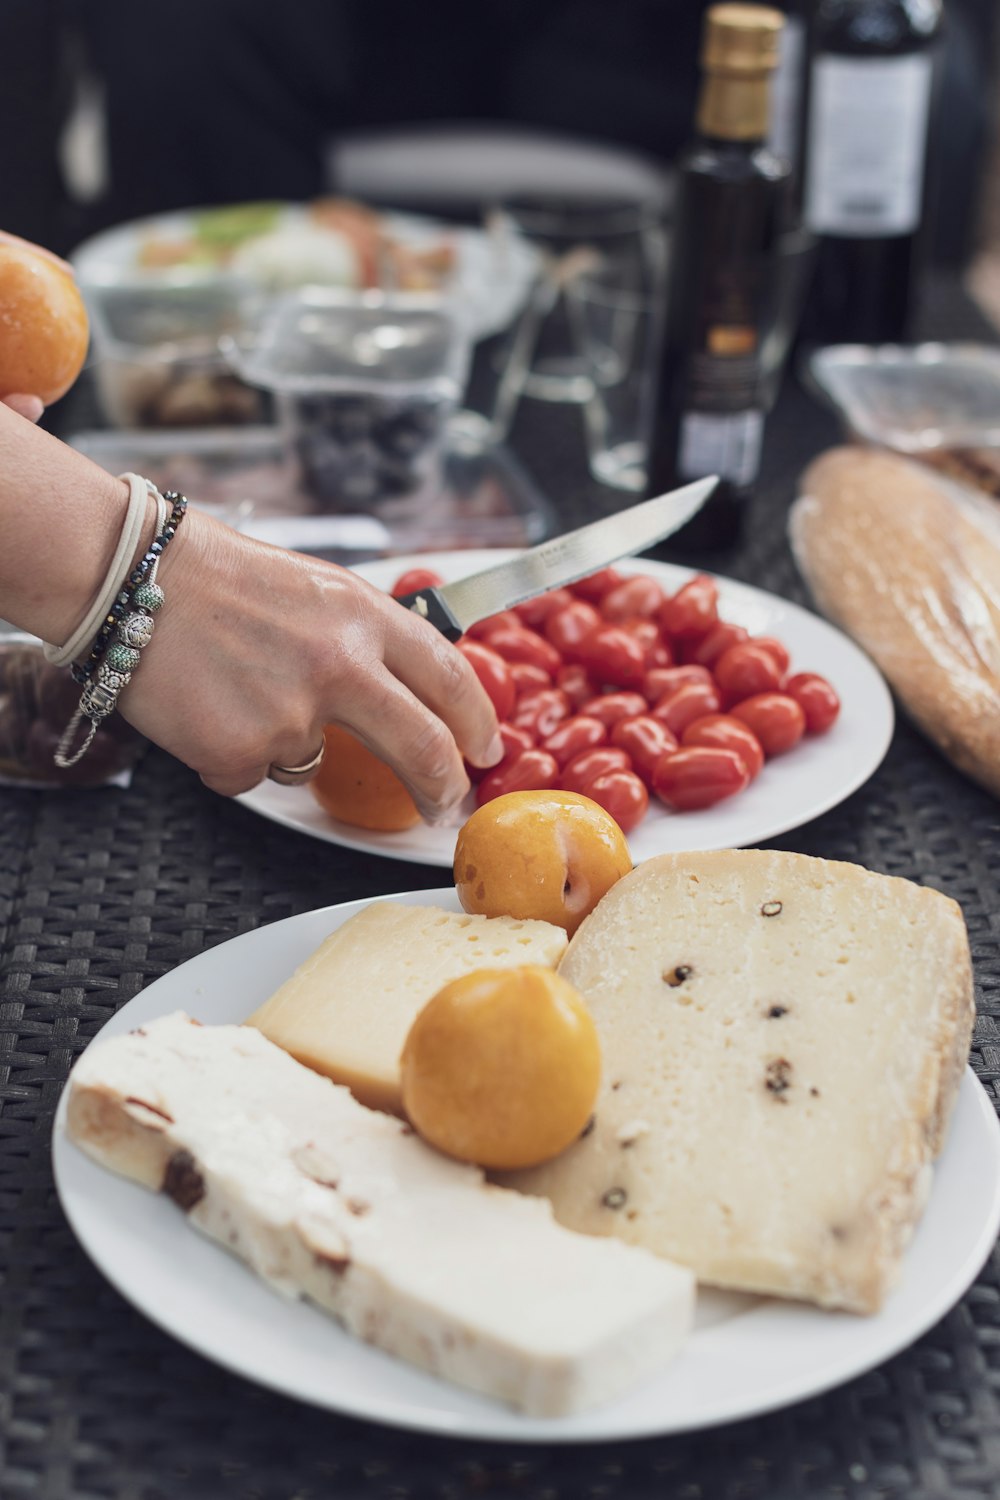
<path fill-rule="evenodd" d="M 438 494 L 471 340 L 439 306 L 310 290 L 265 314 L 235 368 L 273 393 L 304 490 L 328 513 L 397 512 Z"/>

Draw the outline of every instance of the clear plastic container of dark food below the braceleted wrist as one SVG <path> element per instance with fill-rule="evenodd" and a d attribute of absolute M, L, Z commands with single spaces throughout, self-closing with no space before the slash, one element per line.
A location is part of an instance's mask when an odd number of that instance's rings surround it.
<path fill-rule="evenodd" d="M 145 740 L 111 714 L 87 754 L 67 770 L 52 760 L 79 687 L 51 666 L 33 636 L 0 626 L 0 786 L 127 786 Z"/>

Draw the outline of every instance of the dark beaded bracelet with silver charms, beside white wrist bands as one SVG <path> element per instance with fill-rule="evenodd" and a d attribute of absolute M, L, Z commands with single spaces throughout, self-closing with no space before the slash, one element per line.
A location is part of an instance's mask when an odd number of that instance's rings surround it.
<path fill-rule="evenodd" d="M 72 669 L 75 680 L 84 684 L 84 690 L 52 756 L 61 770 L 76 765 L 85 756 L 100 723 L 117 708 L 121 692 L 139 664 L 142 646 L 153 638 L 153 616 L 163 606 L 163 590 L 156 582 L 156 573 L 163 552 L 184 519 L 187 501 L 177 490 L 168 490 L 160 496 L 153 486 L 150 489 L 157 501 L 157 534 L 108 610 L 87 660 Z M 172 508 L 165 520 L 166 501 Z M 88 720 L 88 729 L 81 744 L 70 753 L 76 729 L 84 718 Z"/>

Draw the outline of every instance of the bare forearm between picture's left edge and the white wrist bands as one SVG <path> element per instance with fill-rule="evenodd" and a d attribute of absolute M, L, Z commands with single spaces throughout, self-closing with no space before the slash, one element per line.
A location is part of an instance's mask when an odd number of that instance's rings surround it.
<path fill-rule="evenodd" d="M 61 645 L 114 555 L 129 488 L 0 404 L 0 618 Z"/>

